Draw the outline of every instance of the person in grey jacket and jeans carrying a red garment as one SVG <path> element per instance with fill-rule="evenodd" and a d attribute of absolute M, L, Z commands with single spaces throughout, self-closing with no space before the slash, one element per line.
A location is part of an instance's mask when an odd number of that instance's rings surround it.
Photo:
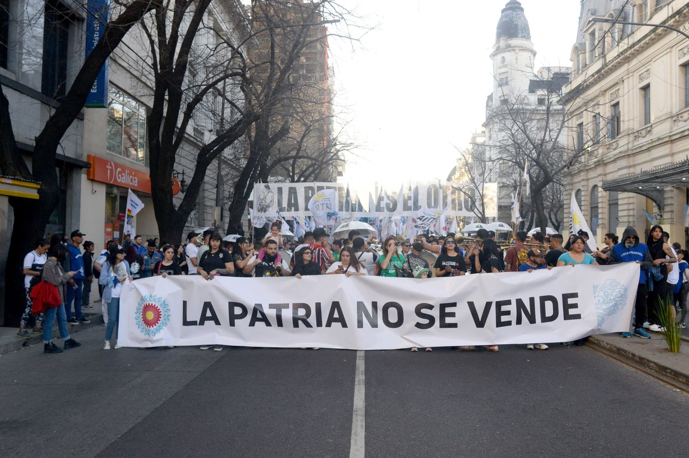
<path fill-rule="evenodd" d="M 63 350 L 52 342 L 52 325 L 56 318 L 60 337 L 65 342 L 64 349 L 69 350 L 70 348 L 81 346 L 79 342 L 70 337 L 70 332 L 67 329 L 65 297 L 67 296 L 68 288 L 71 288 L 69 281 L 76 274 L 74 270 L 65 272 L 61 266 L 61 262 L 65 261 L 68 255 L 68 249 L 61 243 L 58 243 L 56 246 L 51 246 L 50 250 L 48 250 L 48 259 L 43 266 L 41 277 L 57 288 L 61 300 L 59 306 L 48 307 L 48 309 L 45 310 L 45 317 L 43 318 L 43 353 L 61 353 Z"/>

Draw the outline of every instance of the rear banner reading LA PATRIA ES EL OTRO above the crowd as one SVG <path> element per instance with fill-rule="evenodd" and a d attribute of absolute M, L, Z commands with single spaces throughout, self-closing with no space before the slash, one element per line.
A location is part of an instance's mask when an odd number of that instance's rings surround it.
<path fill-rule="evenodd" d="M 476 216 L 471 209 L 477 196 L 486 203 L 486 217 L 497 217 L 497 183 L 485 183 L 482 192 L 453 181 L 394 181 L 390 183 L 256 183 L 256 217 L 299 217 L 309 212 L 316 192 L 336 191 L 336 210 L 347 217 L 393 217 L 446 212 L 448 216 Z"/>

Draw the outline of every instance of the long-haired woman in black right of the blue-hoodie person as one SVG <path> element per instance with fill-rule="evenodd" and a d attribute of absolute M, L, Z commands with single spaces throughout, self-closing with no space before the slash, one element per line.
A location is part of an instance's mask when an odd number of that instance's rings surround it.
<path fill-rule="evenodd" d="M 646 312 L 648 315 L 648 329 L 658 332 L 661 330 L 661 327 L 657 308 L 663 306 L 664 303 L 669 304 L 671 301 L 668 294 L 672 292 L 672 290 L 668 291 L 668 272 L 670 272 L 668 264 L 676 263 L 677 257 L 675 257 L 670 244 L 664 238 L 663 226 L 659 224 L 650 228 L 646 246 L 648 246 L 648 252 L 653 260 L 653 266 L 659 267 L 660 273 L 663 275 L 661 280 L 656 280 L 651 276 L 653 290 L 648 292 L 648 310 Z M 650 288 L 648 289 L 650 290 Z"/>

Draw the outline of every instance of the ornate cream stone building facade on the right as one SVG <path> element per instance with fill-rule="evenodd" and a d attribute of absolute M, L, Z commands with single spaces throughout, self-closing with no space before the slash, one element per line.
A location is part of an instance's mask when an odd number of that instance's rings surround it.
<path fill-rule="evenodd" d="M 622 8 L 626 6 L 626 8 Z M 686 0 L 582 1 L 565 103 L 583 161 L 566 177 L 600 244 L 626 226 L 645 239 L 661 223 L 686 243 L 689 39 Z M 600 21 L 617 21 L 614 25 Z"/>

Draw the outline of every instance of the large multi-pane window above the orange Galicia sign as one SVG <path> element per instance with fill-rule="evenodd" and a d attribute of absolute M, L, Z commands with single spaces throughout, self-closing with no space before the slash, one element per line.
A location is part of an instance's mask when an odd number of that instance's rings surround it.
<path fill-rule="evenodd" d="M 114 86 L 108 95 L 107 150 L 148 165 L 146 107 Z"/>

